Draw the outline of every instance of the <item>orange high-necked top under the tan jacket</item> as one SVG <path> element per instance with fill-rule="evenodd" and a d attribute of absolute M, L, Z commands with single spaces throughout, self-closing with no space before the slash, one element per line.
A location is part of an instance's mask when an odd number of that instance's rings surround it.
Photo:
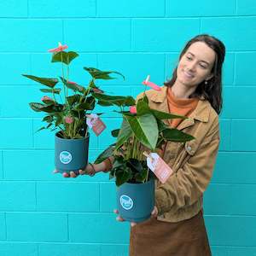
<path fill-rule="evenodd" d="M 169 112 L 173 114 L 183 115 L 189 117 L 189 114 L 192 113 L 199 99 L 197 98 L 177 98 L 172 93 L 172 88 L 167 89 L 167 102 Z M 182 122 L 183 119 L 170 119 L 169 123 L 172 128 L 176 128 Z"/>

